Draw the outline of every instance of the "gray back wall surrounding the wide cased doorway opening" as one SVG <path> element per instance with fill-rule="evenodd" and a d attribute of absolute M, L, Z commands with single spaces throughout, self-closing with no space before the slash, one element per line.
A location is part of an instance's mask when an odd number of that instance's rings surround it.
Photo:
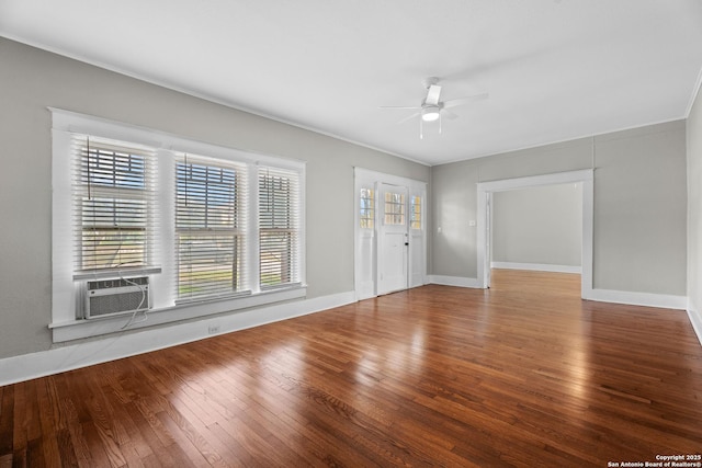
<path fill-rule="evenodd" d="M 686 295 L 686 123 L 432 168 L 434 275 L 477 276 L 476 183 L 595 168 L 593 287 Z"/>

